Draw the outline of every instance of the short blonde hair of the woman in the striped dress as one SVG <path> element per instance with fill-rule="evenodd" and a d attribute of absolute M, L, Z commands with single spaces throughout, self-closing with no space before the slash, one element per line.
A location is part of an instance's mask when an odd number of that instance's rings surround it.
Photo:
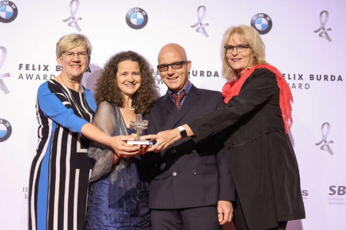
<path fill-rule="evenodd" d="M 56 56 L 60 57 L 63 52 L 73 48 L 84 46 L 87 56 L 91 55 L 91 44 L 87 37 L 82 34 L 68 34 L 59 39 L 57 42 Z"/>

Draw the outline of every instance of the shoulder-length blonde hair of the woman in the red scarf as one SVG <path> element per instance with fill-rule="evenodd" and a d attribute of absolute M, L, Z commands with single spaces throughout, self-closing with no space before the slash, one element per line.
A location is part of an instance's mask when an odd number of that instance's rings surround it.
<path fill-rule="evenodd" d="M 224 46 L 228 45 L 228 40 L 235 33 L 239 35 L 240 40 L 242 40 L 245 45 L 249 45 L 250 49 L 252 49 L 254 53 L 254 61 L 252 62 L 252 66 L 267 63 L 265 61 L 265 46 L 259 33 L 251 26 L 232 26 L 225 31 L 221 44 L 222 75 L 229 81 L 236 80 L 238 72 L 228 63 Z"/>

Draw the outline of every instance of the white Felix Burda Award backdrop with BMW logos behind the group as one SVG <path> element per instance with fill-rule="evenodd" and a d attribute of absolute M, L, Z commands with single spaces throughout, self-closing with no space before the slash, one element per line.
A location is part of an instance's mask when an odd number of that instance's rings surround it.
<path fill-rule="evenodd" d="M 115 53 L 138 52 L 154 68 L 160 48 L 178 43 L 192 61 L 190 81 L 220 91 L 222 35 L 239 24 L 259 31 L 267 61 L 294 97 L 290 137 L 307 217 L 287 229 L 346 229 L 345 10 L 344 0 L 0 0 L 0 229 L 26 229 L 36 93 L 60 73 L 55 44 L 61 36 L 89 38 L 93 50 L 82 83 L 91 90 Z"/>

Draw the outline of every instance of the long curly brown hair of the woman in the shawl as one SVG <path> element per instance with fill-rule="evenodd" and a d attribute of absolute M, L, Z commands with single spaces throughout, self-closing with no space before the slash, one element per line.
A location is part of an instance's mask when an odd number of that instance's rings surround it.
<path fill-rule="evenodd" d="M 135 108 L 136 114 L 145 114 L 159 96 L 158 87 L 153 75 L 154 70 L 149 62 L 133 51 L 120 52 L 109 58 L 104 65 L 100 77 L 96 81 L 96 104 L 107 101 L 119 107 L 125 106 L 123 94 L 116 81 L 118 65 L 124 60 L 138 62 L 141 69 L 142 84 L 134 94 L 132 106 Z"/>

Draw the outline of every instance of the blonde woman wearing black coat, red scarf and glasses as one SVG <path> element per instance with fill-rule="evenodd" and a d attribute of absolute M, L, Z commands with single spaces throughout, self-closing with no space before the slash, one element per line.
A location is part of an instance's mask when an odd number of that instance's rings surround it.
<path fill-rule="evenodd" d="M 236 187 L 237 230 L 284 230 L 305 218 L 297 159 L 288 136 L 292 94 L 281 73 L 265 61 L 259 33 L 234 26 L 223 36 L 221 59 L 225 106 L 179 128 L 143 138 L 161 151 L 184 136 L 198 142 L 227 130 L 224 146 Z"/>

